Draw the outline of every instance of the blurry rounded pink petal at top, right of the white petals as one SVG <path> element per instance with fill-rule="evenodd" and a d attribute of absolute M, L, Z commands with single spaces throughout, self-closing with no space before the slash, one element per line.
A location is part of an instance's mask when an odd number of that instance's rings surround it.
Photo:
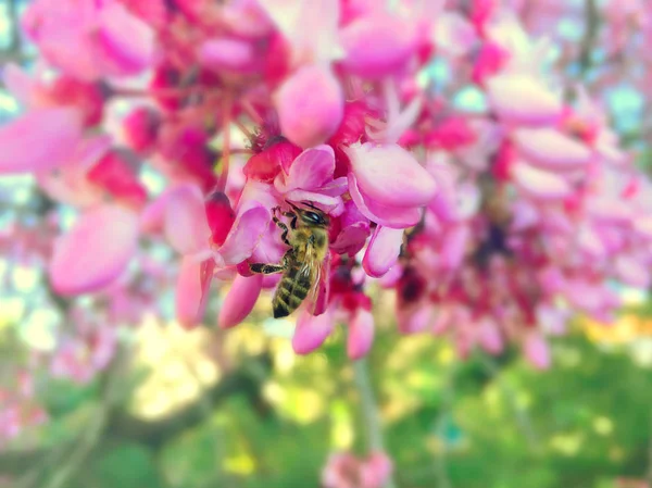
<path fill-rule="evenodd" d="M 340 30 L 344 48 L 342 66 L 367 78 L 387 76 L 400 70 L 416 48 L 416 29 L 398 15 L 375 12 Z"/>

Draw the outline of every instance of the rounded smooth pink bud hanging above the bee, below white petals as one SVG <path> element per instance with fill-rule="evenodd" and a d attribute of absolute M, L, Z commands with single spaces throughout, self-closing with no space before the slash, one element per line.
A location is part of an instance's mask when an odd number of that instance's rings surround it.
<path fill-rule="evenodd" d="M 283 135 L 297 146 L 310 148 L 335 134 L 343 116 L 344 98 L 328 68 L 308 65 L 278 88 L 274 105 Z"/>

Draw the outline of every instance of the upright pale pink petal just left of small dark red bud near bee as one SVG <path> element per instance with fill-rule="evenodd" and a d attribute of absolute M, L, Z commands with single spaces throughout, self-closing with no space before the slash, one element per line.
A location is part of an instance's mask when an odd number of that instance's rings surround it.
<path fill-rule="evenodd" d="M 164 232 L 170 245 L 180 254 L 208 249 L 211 229 L 199 187 L 180 185 L 171 191 L 165 207 Z"/>

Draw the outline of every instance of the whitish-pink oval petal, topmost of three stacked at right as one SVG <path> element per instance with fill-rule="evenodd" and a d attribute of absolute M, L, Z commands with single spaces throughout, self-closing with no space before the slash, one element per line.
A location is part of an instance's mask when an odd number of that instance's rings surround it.
<path fill-rule="evenodd" d="M 493 110 L 507 122 L 538 124 L 562 114 L 561 96 L 531 76 L 493 76 L 487 80 L 487 93 Z"/>

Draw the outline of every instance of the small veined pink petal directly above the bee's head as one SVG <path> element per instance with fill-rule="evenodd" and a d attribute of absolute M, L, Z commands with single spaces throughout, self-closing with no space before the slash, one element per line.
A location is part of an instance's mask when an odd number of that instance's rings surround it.
<path fill-rule="evenodd" d="M 304 190 L 319 188 L 327 180 L 333 179 L 335 171 L 335 153 L 330 146 L 322 145 L 306 149 L 292 162 L 287 178 L 283 174 L 276 177 L 274 186 L 278 191 L 286 192 L 291 189 Z M 285 185 L 280 179 L 285 179 Z"/>

